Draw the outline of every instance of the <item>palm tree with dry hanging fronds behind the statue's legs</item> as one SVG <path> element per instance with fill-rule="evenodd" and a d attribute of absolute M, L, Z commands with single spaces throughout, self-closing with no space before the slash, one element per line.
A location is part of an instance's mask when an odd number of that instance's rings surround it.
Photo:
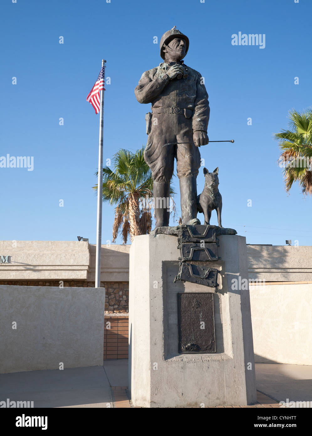
<path fill-rule="evenodd" d="M 118 150 L 113 157 L 113 166 L 113 170 L 108 166 L 103 168 L 102 199 L 111 205 L 116 204 L 112 242 L 120 232 L 126 244 L 129 235 L 132 241 L 134 236 L 149 234 L 152 229 L 153 179 L 144 160 L 144 146 L 136 153 Z M 93 189 L 97 191 L 97 186 Z M 170 186 L 172 211 L 175 213 L 173 195 L 175 192 Z"/>

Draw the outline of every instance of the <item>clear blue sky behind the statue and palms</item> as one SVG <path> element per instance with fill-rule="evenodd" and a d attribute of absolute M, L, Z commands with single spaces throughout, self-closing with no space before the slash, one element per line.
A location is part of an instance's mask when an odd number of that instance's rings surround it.
<path fill-rule="evenodd" d="M 185 63 L 205 78 L 210 140 L 235 140 L 200 148 L 208 170 L 219 167 L 224 227 L 247 243 L 311 245 L 312 200 L 298 186 L 286 194 L 272 138 L 290 109 L 312 104 L 311 14 L 311 0 L 1 2 L 0 156 L 32 156 L 34 170 L 0 168 L 0 239 L 95 243 L 99 116 L 86 96 L 105 58 L 104 163 L 145 144 L 150 106 L 134 88 L 161 61 L 154 36 L 176 25 L 190 38 Z M 238 32 L 265 34 L 265 48 L 233 46 Z M 200 170 L 198 192 L 203 183 Z M 179 195 L 176 203 L 179 215 Z M 103 244 L 113 218 L 104 204 Z"/>

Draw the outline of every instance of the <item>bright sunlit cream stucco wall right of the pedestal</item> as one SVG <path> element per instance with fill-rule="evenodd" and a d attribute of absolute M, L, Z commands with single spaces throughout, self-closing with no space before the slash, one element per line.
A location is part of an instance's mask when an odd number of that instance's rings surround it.
<path fill-rule="evenodd" d="M 255 362 L 312 365 L 312 284 L 249 289 Z"/>

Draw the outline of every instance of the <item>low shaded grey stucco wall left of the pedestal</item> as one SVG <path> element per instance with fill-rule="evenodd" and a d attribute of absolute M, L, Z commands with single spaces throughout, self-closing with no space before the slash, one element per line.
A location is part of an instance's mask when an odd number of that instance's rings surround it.
<path fill-rule="evenodd" d="M 1 285 L 0 372 L 102 365 L 104 292 Z"/>

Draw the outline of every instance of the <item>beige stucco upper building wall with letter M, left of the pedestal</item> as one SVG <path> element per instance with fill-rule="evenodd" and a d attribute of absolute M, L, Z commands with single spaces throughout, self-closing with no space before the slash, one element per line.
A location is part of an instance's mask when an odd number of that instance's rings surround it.
<path fill-rule="evenodd" d="M 102 245 L 101 281 L 129 281 L 130 245 Z M 0 241 L 0 280 L 95 281 L 95 245 L 78 241 Z M 1 260 L 1 258 L 0 258 Z"/>

